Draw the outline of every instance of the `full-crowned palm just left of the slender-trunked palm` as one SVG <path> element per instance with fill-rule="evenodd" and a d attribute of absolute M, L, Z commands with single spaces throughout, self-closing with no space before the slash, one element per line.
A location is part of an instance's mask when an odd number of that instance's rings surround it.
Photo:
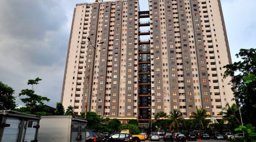
<path fill-rule="evenodd" d="M 169 126 L 170 130 L 173 127 L 177 128 L 177 131 L 179 132 L 179 128 L 183 127 L 185 125 L 184 118 L 182 117 L 182 114 L 179 110 L 174 109 L 173 112 L 170 112 L 169 120 L 167 121 L 167 125 Z"/>

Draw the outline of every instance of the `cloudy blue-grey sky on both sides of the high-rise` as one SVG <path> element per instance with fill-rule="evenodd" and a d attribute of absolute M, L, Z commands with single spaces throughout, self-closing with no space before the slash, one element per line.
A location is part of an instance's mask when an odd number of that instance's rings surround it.
<path fill-rule="evenodd" d="M 68 40 L 76 3 L 94 0 L 0 0 L 0 81 L 15 90 L 31 89 L 60 102 Z M 140 9 L 147 0 L 140 0 Z M 255 48 L 256 0 L 221 0 L 232 60 L 240 48 Z M 16 102 L 23 103 L 17 97 Z"/>

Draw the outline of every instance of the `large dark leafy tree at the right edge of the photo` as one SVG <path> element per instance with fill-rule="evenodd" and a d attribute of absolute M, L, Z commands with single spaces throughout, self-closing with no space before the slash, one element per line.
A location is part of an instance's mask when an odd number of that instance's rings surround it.
<path fill-rule="evenodd" d="M 256 121 L 254 121 L 256 117 L 256 84 L 255 81 L 251 84 L 246 84 L 249 82 L 243 81 L 243 79 L 248 79 L 246 77 L 249 74 L 256 75 L 256 49 L 240 49 L 236 57 L 241 58 L 242 61 L 224 66 L 226 68 L 224 78 L 227 76 L 233 77 L 230 81 L 233 84 L 231 89 L 234 92 L 236 104 L 241 105 L 243 123 L 256 125 Z M 244 76 L 246 77 L 244 78 Z"/>

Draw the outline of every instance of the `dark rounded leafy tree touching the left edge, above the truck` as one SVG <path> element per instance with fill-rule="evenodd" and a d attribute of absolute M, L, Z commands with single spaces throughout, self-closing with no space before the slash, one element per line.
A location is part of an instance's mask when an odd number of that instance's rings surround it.
<path fill-rule="evenodd" d="M 0 81 L 0 110 L 15 110 L 14 89 Z"/>

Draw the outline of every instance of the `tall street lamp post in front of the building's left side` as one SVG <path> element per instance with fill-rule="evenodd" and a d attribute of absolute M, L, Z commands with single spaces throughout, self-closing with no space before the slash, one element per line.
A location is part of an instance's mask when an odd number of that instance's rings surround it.
<path fill-rule="evenodd" d="M 92 62 L 92 56 L 94 57 L 95 55 L 95 50 L 96 50 L 96 47 L 94 45 L 98 45 L 98 44 L 102 44 L 104 42 L 99 42 L 99 43 L 96 43 L 96 44 L 92 44 L 92 42 L 90 41 L 90 37 L 87 37 L 88 41 L 90 44 L 90 61 L 89 61 L 89 69 L 88 69 L 88 80 L 87 80 L 87 94 L 86 94 L 86 102 L 85 102 L 85 116 L 84 118 L 86 119 L 87 117 L 87 105 L 88 105 L 88 95 L 89 95 L 89 82 L 90 82 L 90 70 L 91 70 L 91 62 Z M 86 45 L 84 42 L 81 42 L 81 45 Z M 93 47 L 93 48 L 92 48 Z M 94 49 L 94 52 L 93 52 L 93 55 L 92 55 L 92 51 Z"/>

